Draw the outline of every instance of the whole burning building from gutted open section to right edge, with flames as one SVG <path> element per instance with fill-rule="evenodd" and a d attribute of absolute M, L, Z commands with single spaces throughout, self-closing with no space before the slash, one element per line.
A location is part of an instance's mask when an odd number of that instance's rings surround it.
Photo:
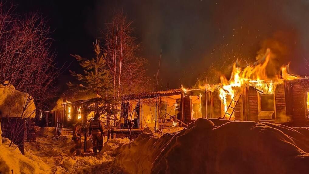
<path fill-rule="evenodd" d="M 268 50 L 264 59 L 253 66 L 241 68 L 234 64 L 230 80 L 221 76 L 220 84 L 140 95 L 135 103 L 139 103 L 139 115 L 144 119 L 141 127 L 146 123 L 155 127 L 175 124 L 172 118 L 188 125 L 197 118 L 219 117 L 308 127 L 309 79 L 289 74 L 288 65 L 281 67 L 279 75 L 268 77 L 269 61 Z"/>

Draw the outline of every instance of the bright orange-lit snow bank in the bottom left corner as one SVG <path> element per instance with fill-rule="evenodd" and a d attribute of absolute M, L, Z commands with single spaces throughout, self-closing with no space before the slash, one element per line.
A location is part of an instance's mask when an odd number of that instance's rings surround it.
<path fill-rule="evenodd" d="M 10 140 L 3 142 L 0 147 L 0 173 L 49 173 L 50 167 L 36 156 L 27 158 L 23 156 L 17 146 Z"/>

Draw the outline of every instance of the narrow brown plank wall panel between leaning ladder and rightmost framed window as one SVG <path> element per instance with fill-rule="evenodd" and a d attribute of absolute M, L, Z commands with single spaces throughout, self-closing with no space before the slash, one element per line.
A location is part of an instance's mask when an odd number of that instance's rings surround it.
<path fill-rule="evenodd" d="M 257 91 L 252 88 L 248 88 L 248 115 L 247 115 L 248 121 L 259 121 L 257 117 L 257 115 L 259 114 L 257 100 L 258 100 Z"/>

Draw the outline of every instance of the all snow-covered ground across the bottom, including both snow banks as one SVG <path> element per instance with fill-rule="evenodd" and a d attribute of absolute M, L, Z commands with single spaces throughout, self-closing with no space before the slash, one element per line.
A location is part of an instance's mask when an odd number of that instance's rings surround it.
<path fill-rule="evenodd" d="M 188 128 L 129 139 L 104 141 L 93 156 L 70 153 L 72 131 L 37 128 L 25 156 L 6 141 L 0 148 L 0 171 L 8 173 L 308 173 L 309 129 L 280 124 L 198 119 Z M 180 131 L 180 132 L 175 132 Z M 83 141 L 83 140 L 82 140 Z M 89 144 L 90 141 L 88 141 Z M 82 148 L 83 149 L 83 148 Z M 4 171 L 4 172 L 3 172 Z"/>

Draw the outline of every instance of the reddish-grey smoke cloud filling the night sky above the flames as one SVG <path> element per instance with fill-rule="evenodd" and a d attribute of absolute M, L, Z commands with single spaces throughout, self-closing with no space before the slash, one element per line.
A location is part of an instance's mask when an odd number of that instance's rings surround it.
<path fill-rule="evenodd" d="M 272 51 L 272 74 L 292 61 L 293 73 L 303 74 L 309 50 L 309 4 L 305 0 L 217 0 L 98 2 L 97 28 L 104 27 L 114 11 L 124 11 L 134 20 L 136 36 L 142 42 L 139 53 L 149 60 L 148 75 L 157 71 L 169 88 L 193 86 L 207 74 L 230 74 L 237 59 L 252 64 Z"/>

